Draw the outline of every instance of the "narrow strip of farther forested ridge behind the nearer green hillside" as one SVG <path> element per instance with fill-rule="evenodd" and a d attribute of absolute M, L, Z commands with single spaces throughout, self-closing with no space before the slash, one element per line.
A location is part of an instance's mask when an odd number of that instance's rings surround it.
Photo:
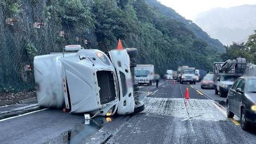
<path fill-rule="evenodd" d="M 159 11 L 161 11 L 161 13 L 165 14 L 167 17 L 173 18 L 178 22 L 182 22 L 187 29 L 193 31 L 193 33 L 197 38 L 203 39 L 205 42 L 215 47 L 215 49 L 217 49 L 218 51 L 221 51 L 221 52 L 225 51 L 224 46 L 222 45 L 221 42 L 219 42 L 218 39 L 211 38 L 205 31 L 201 29 L 201 27 L 197 26 L 195 23 L 193 23 L 189 19 L 185 19 L 184 17 L 176 13 L 175 10 L 165 5 L 162 5 L 157 0 L 146 0 L 146 2 L 149 3 L 149 5 L 155 7 L 156 9 L 159 9 Z"/>

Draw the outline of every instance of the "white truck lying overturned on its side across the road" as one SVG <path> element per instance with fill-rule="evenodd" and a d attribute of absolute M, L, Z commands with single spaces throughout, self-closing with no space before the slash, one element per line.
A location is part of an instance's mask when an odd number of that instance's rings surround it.
<path fill-rule="evenodd" d="M 83 49 L 65 46 L 73 53 L 52 53 L 34 58 L 38 105 L 65 107 L 71 113 L 124 115 L 144 110 L 134 101 L 130 54 L 137 49 Z M 77 51 L 77 52 L 74 52 Z M 128 52 L 128 53 L 127 53 Z"/>

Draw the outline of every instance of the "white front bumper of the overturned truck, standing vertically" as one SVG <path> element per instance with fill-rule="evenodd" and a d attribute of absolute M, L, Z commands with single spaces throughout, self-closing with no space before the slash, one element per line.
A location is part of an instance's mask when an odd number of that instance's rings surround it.
<path fill-rule="evenodd" d="M 130 114 L 134 111 L 133 81 L 130 71 L 130 58 L 126 50 L 109 51 L 111 62 L 117 72 L 119 83 L 118 114 Z"/>

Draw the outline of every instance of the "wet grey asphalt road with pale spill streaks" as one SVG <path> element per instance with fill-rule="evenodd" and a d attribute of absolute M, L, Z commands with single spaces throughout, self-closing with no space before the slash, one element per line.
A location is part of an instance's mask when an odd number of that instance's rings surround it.
<path fill-rule="evenodd" d="M 183 99 L 187 87 L 188 100 Z M 51 109 L 7 119 L 0 122 L 0 143 L 256 142 L 255 127 L 243 131 L 238 118 L 226 118 L 225 107 L 218 105 L 225 98 L 213 90 L 165 81 L 158 89 L 141 86 L 136 94 L 146 105 L 142 113 L 97 117 L 89 125 L 83 115 Z"/>

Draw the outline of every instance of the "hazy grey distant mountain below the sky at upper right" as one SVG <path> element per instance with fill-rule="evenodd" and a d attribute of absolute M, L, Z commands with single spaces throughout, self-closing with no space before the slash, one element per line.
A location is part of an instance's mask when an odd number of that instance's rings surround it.
<path fill-rule="evenodd" d="M 197 15 L 195 23 L 224 45 L 245 42 L 256 29 L 256 5 L 217 8 Z"/>

